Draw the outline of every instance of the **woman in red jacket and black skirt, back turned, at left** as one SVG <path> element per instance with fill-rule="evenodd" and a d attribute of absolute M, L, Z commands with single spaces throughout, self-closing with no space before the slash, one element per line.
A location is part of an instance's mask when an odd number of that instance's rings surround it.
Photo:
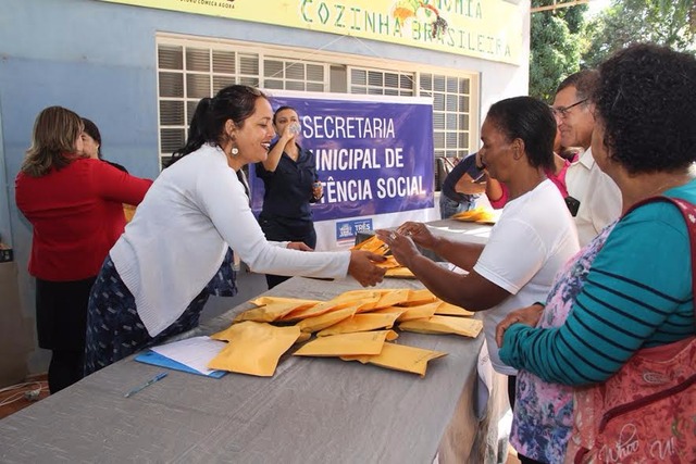
<path fill-rule="evenodd" d="M 51 393 L 83 377 L 89 290 L 125 226 L 112 212 L 138 204 L 152 184 L 84 158 L 83 129 L 70 110 L 41 111 L 15 180 L 17 208 L 34 226 L 29 274 L 39 347 L 52 350 Z"/>

